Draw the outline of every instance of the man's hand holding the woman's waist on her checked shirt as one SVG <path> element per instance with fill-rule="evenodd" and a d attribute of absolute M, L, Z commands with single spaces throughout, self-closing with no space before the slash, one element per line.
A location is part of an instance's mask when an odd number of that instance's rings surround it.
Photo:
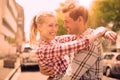
<path fill-rule="evenodd" d="M 40 72 L 46 76 L 52 76 L 55 74 L 55 72 L 53 72 L 53 68 L 52 67 L 48 67 L 48 66 L 40 66 Z"/>

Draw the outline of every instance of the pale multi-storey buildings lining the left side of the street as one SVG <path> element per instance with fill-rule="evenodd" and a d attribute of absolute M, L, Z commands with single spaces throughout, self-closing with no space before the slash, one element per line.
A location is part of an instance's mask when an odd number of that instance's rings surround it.
<path fill-rule="evenodd" d="M 16 53 L 17 45 L 22 41 L 24 41 L 23 8 L 15 0 L 0 0 L 0 56 Z"/>

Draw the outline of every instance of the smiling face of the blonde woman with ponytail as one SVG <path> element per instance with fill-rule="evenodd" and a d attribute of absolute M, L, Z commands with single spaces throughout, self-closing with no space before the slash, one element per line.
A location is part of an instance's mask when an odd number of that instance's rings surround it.
<path fill-rule="evenodd" d="M 43 24 L 38 24 L 38 29 L 40 31 L 40 38 L 42 40 L 52 40 L 55 38 L 58 31 L 57 20 L 54 16 L 47 16 L 44 18 Z"/>

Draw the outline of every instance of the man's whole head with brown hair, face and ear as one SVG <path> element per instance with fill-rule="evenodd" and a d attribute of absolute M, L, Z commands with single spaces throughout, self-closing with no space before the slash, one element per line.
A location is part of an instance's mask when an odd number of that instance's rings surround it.
<path fill-rule="evenodd" d="M 69 6 L 68 6 L 69 7 Z M 64 28 L 67 29 L 69 34 L 79 36 L 86 30 L 86 22 L 88 18 L 87 10 L 80 6 L 73 9 L 63 9 Z"/>

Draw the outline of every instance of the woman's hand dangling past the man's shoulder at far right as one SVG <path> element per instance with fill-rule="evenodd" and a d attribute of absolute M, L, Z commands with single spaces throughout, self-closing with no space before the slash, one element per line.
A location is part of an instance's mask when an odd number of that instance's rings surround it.
<path fill-rule="evenodd" d="M 113 31 L 107 31 L 104 35 L 105 39 L 109 39 L 113 42 L 116 42 L 117 40 L 117 33 L 113 32 Z"/>

